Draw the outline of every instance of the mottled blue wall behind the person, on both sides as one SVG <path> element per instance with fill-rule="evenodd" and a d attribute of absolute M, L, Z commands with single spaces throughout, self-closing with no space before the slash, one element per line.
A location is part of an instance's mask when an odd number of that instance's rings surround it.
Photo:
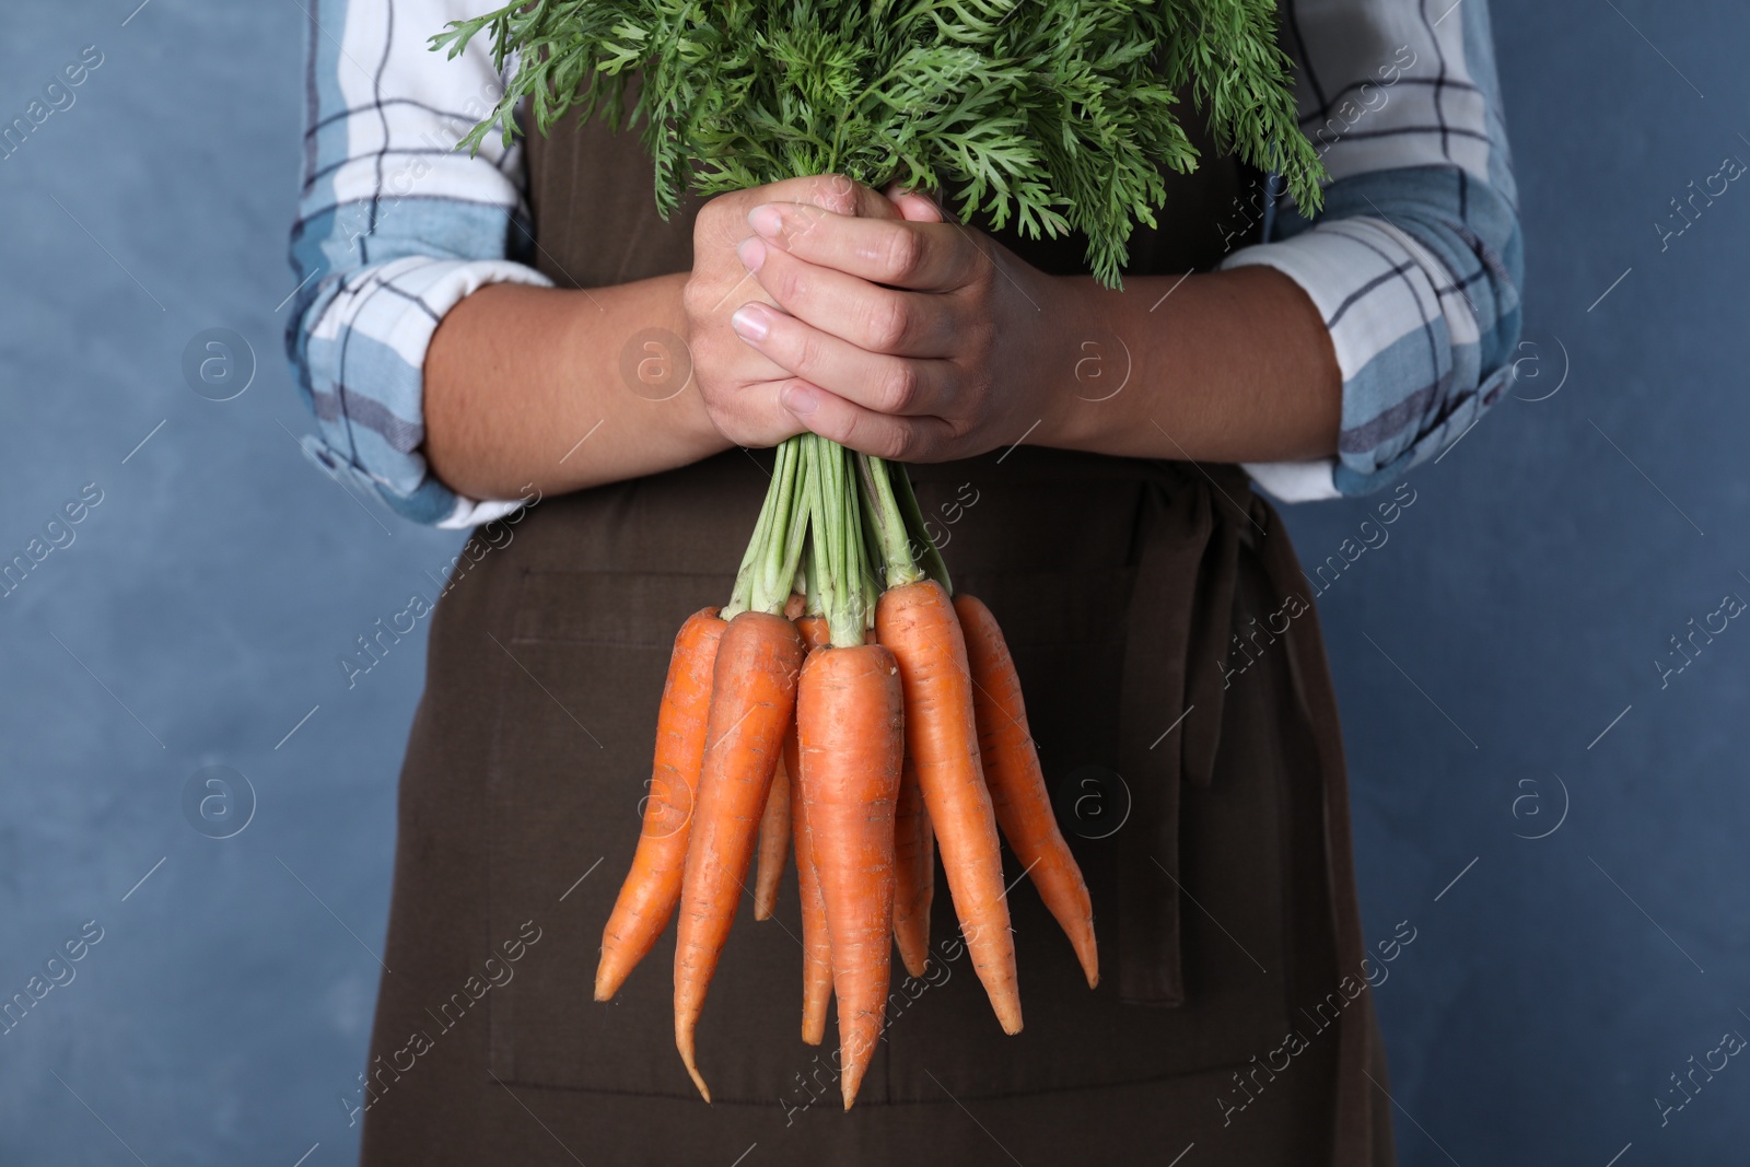
<path fill-rule="evenodd" d="M 0 44 L 0 121 L 103 54 L 0 161 L 0 558 L 102 492 L 0 600 L 0 997 L 102 927 L 0 1038 L 0 1162 L 343 1164 L 424 661 L 408 640 L 348 691 L 334 658 L 458 537 L 348 497 L 292 439 L 303 5 L 152 0 L 124 24 L 135 2 L 12 5 Z M 1321 598 L 1368 931 L 1418 929 L 1377 994 L 1400 1153 L 1740 1162 L 1750 1069 L 1664 1127 L 1654 1095 L 1750 1034 L 1750 630 L 1668 688 L 1652 661 L 1750 598 L 1750 189 L 1664 250 L 1652 224 L 1750 159 L 1750 12 L 1559 0 L 1500 7 L 1496 33 L 1522 401 L 1418 471 Z M 257 366 L 224 402 L 182 373 L 212 327 Z M 1293 511 L 1302 558 L 1368 513 Z M 182 807 L 210 765 L 254 793 L 234 784 L 254 817 L 228 840 Z"/>

